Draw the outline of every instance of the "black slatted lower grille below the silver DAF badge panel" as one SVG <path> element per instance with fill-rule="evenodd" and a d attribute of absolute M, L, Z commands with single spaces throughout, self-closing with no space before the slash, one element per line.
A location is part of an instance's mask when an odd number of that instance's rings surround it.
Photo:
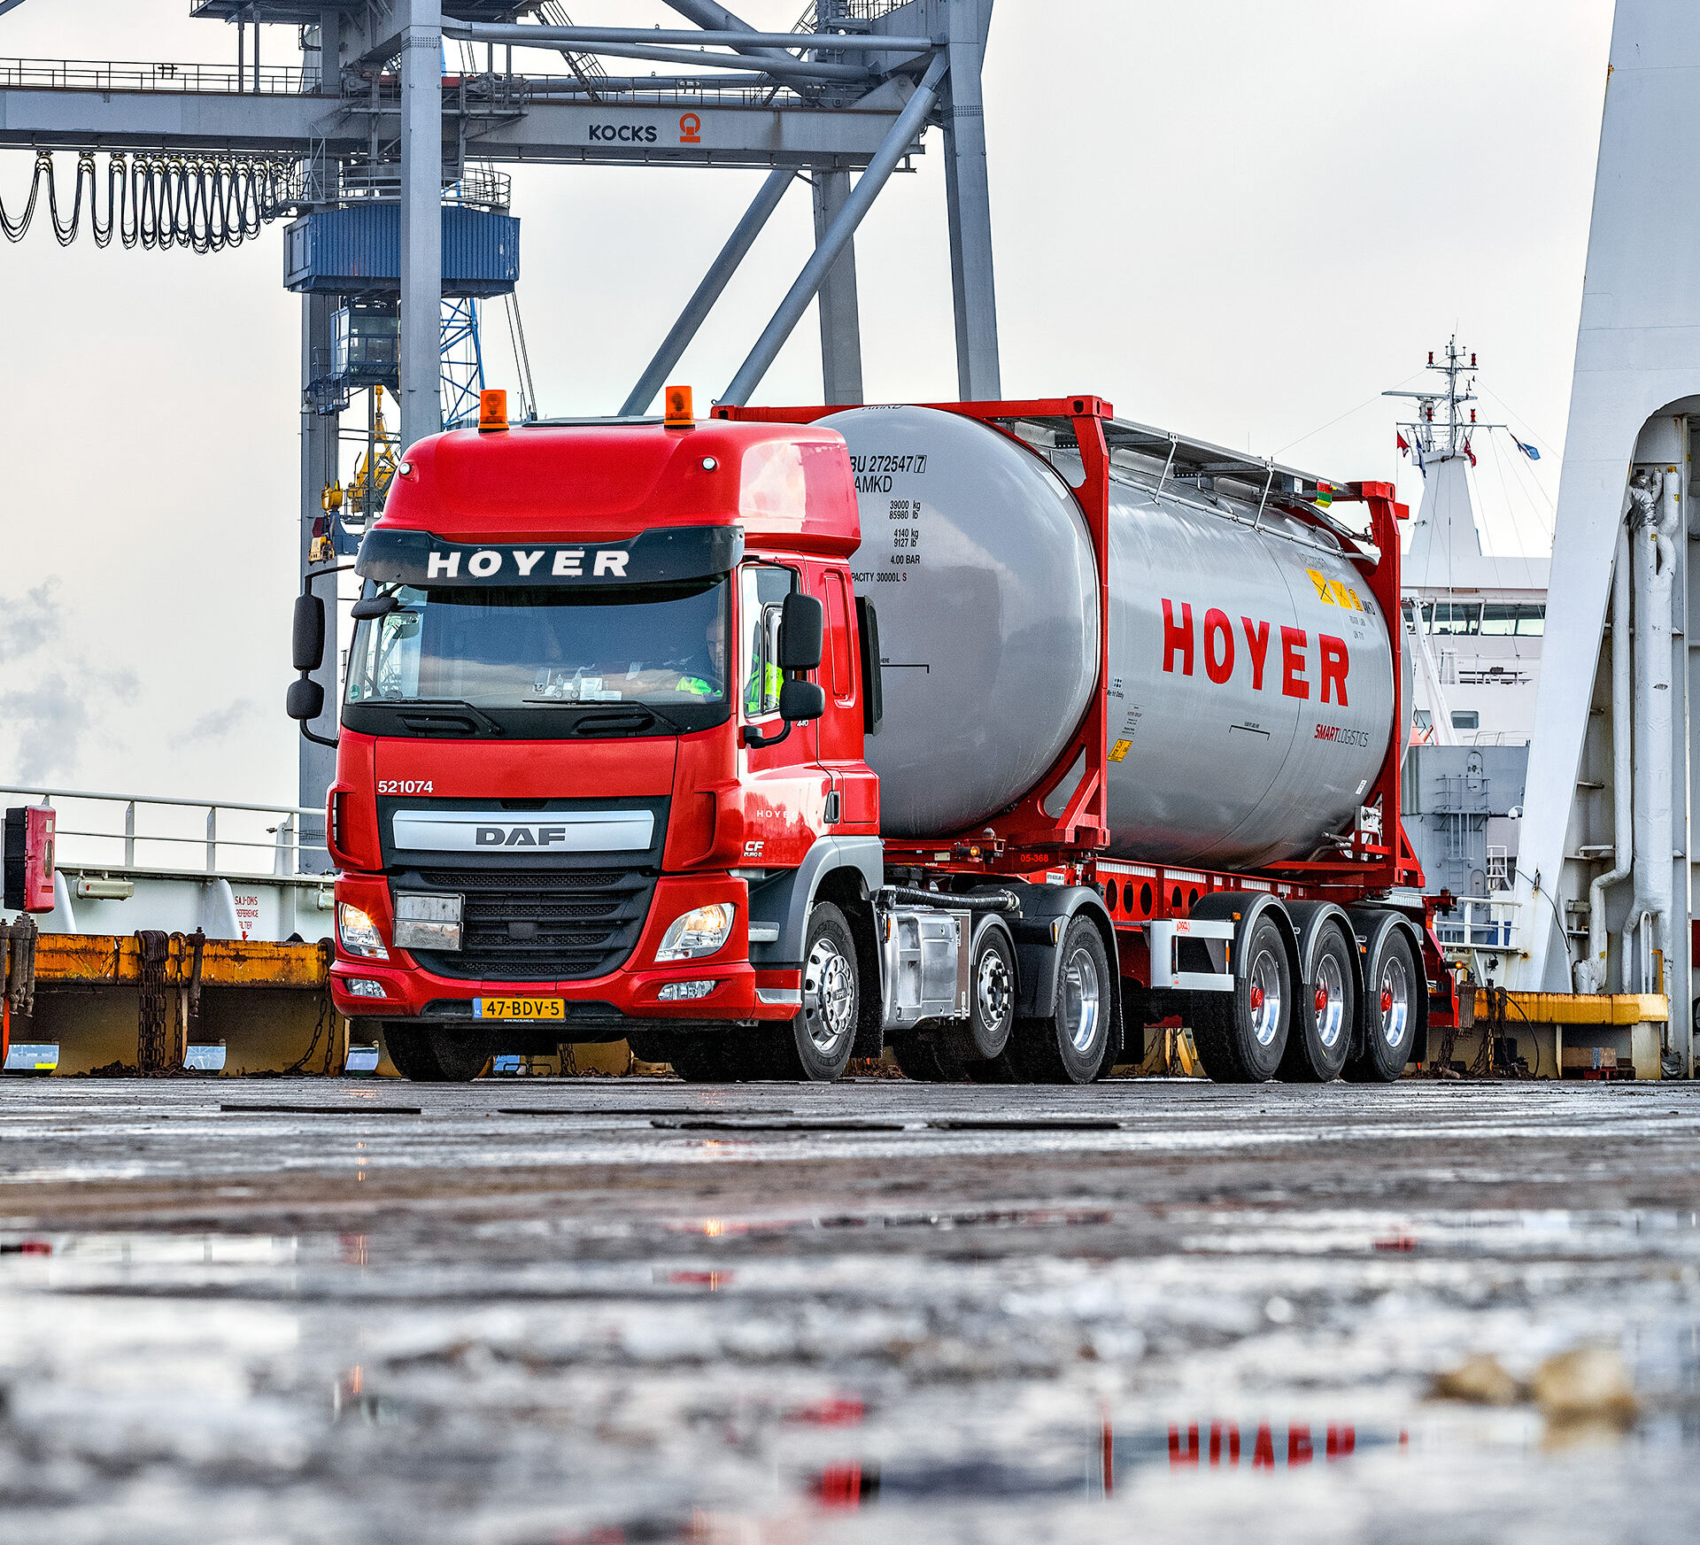
<path fill-rule="evenodd" d="M 415 950 L 427 971 L 456 981 L 547 982 L 615 971 L 638 943 L 654 875 L 641 869 L 422 869 L 398 891 L 459 891 L 459 950 Z M 515 938 L 510 923 L 530 923 Z"/>

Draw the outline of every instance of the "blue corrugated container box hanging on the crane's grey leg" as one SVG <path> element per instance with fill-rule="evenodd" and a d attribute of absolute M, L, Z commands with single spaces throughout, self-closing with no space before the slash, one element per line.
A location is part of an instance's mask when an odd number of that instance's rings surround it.
<path fill-rule="evenodd" d="M 442 292 L 505 296 L 520 279 L 520 223 L 512 214 L 447 204 Z M 325 296 L 401 292 L 401 206 L 304 214 L 284 228 L 284 287 Z"/>

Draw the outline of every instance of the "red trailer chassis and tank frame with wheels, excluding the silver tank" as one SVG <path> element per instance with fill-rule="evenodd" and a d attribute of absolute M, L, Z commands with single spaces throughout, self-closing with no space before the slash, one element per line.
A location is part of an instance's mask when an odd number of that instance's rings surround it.
<path fill-rule="evenodd" d="M 887 886 L 867 897 L 876 960 L 864 962 L 877 971 L 881 1003 L 864 994 L 857 1052 L 877 1055 L 891 1044 L 904 1071 L 923 1079 L 1081 1083 L 1141 1057 L 1146 1027 L 1187 1022 L 1205 1069 L 1222 1081 L 1387 1081 L 1423 1061 L 1430 1028 L 1457 1023 L 1457 993 L 1399 819 L 1406 702 L 1397 523 L 1409 512 L 1394 486 L 1309 479 L 1117 420 L 1090 394 L 923 406 L 1023 445 L 1018 427 L 1039 428 L 1052 449 L 1078 450 L 1085 481 L 1073 491 L 1098 569 L 1098 685 L 1064 753 L 1015 806 L 955 836 L 886 840 Z M 802 425 L 835 411 L 716 406 L 714 416 Z M 1105 852 L 1108 490 L 1119 449 L 1161 457 L 1164 481 L 1236 484 L 1258 500 L 1258 518 L 1277 508 L 1326 530 L 1379 602 L 1396 663 L 1394 733 L 1336 853 L 1231 872 Z M 1368 530 L 1328 515 L 1331 503 L 1363 505 Z M 988 962 L 1000 945 L 1013 957 L 1015 979 L 1001 1042 L 996 1005 L 981 1001 L 1001 991 L 1003 969 Z M 1108 1001 L 1090 991 L 1098 952 L 1120 984 Z M 1091 1044 L 1085 1020 L 1095 1013 L 1108 1018 L 1108 1035 L 1102 1059 L 1085 1066 L 1069 1052 Z"/>

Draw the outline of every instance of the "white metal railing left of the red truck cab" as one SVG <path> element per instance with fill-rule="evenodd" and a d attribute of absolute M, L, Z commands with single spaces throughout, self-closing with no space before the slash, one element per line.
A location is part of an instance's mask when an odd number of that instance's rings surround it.
<path fill-rule="evenodd" d="M 330 850 L 323 841 L 303 841 L 303 823 L 309 823 L 311 831 L 321 831 L 325 824 L 323 809 L 304 809 L 287 804 L 246 804 L 235 799 L 172 799 L 153 794 L 97 794 L 87 789 L 15 789 L 0 787 L 0 802 L 17 804 L 32 801 L 65 809 L 61 819 L 54 823 L 54 843 L 58 846 L 58 867 L 100 867 L 100 869 L 156 869 L 178 870 L 184 874 L 240 874 L 240 875 L 313 875 L 330 867 Z M 85 814 L 83 806 L 94 811 Z M 146 826 L 138 826 L 138 811 L 143 812 Z M 204 811 L 201 831 L 182 829 L 185 823 L 175 823 L 178 829 L 162 829 L 168 823 L 165 811 Z M 102 814 L 110 821 L 99 824 Z M 241 835 L 233 835 L 230 823 L 221 835 L 219 816 L 248 818 L 241 821 Z M 68 826 L 63 819 L 71 816 L 76 821 L 90 819 L 94 826 Z M 151 816 L 151 821 L 150 821 Z M 275 824 L 264 826 L 265 818 L 275 818 Z M 264 835 L 262 835 L 264 833 Z M 66 845 L 66 838 L 75 841 Z M 138 857 L 146 858 L 156 845 L 165 848 L 168 862 L 138 863 Z M 185 848 L 201 848 L 202 863 L 194 863 Z M 240 850 L 238 860 L 253 855 L 255 862 L 240 862 L 228 869 L 219 869 L 219 850 Z M 87 852 L 83 852 L 87 850 Z M 265 853 L 265 863 L 257 855 Z M 321 863 L 308 869 L 301 867 L 303 855 L 321 857 Z"/>

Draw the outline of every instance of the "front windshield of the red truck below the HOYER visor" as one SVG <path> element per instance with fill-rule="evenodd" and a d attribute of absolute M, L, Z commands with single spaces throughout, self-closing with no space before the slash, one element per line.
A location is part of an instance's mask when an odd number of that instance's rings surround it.
<path fill-rule="evenodd" d="M 359 624 L 350 709 L 454 702 L 495 712 L 639 704 L 690 727 L 724 717 L 724 574 L 585 588 L 382 586 L 398 607 Z M 525 726 L 527 733 L 536 724 Z M 547 731 L 542 731 L 547 733 Z"/>

